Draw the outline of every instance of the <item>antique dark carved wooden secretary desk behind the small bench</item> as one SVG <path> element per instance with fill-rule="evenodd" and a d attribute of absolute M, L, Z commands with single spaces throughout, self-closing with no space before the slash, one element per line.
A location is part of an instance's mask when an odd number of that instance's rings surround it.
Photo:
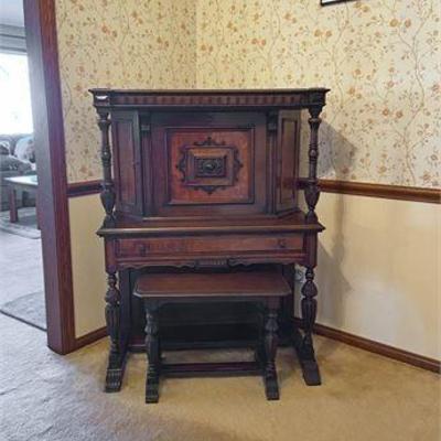
<path fill-rule="evenodd" d="M 120 389 L 127 352 L 143 347 L 144 318 L 132 295 L 140 273 L 270 268 L 293 290 L 295 263 L 306 269 L 302 331 L 291 295 L 279 314 L 280 336 L 295 347 L 305 383 L 320 384 L 311 333 L 323 230 L 315 214 L 318 135 L 329 89 L 90 92 L 104 170 L 106 390 Z M 308 176 L 299 176 L 302 109 Z M 160 333 L 170 348 L 240 346 L 252 340 L 252 313 L 240 303 L 174 306 L 161 312 Z"/>

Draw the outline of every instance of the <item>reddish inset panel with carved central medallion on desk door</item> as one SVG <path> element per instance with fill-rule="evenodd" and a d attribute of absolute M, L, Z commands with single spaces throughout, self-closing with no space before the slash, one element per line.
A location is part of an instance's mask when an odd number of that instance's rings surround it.
<path fill-rule="evenodd" d="M 169 203 L 250 203 L 254 129 L 170 129 Z"/>

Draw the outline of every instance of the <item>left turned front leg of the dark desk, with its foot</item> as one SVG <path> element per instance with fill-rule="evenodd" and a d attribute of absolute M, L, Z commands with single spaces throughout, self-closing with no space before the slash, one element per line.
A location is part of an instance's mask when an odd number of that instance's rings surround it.
<path fill-rule="evenodd" d="M 116 392 L 121 389 L 125 353 L 120 347 L 120 293 L 117 288 L 116 272 L 108 271 L 108 289 L 106 292 L 106 324 L 110 336 L 109 361 L 106 375 L 106 392 Z"/>

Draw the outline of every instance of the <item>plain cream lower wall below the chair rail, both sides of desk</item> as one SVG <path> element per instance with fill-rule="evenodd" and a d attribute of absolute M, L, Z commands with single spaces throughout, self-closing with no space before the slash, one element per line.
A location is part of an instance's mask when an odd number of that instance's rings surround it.
<path fill-rule="evenodd" d="M 441 358 L 441 207 L 322 193 L 318 322 Z M 105 325 L 103 220 L 97 195 L 69 200 L 75 334 Z M 298 295 L 298 300 L 299 300 Z"/>

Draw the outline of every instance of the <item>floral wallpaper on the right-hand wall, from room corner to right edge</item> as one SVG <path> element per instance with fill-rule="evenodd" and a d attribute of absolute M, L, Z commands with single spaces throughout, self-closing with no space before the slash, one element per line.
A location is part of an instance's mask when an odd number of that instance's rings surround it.
<path fill-rule="evenodd" d="M 438 187 L 440 13 L 439 0 L 198 0 L 197 85 L 330 87 L 321 176 Z"/>

